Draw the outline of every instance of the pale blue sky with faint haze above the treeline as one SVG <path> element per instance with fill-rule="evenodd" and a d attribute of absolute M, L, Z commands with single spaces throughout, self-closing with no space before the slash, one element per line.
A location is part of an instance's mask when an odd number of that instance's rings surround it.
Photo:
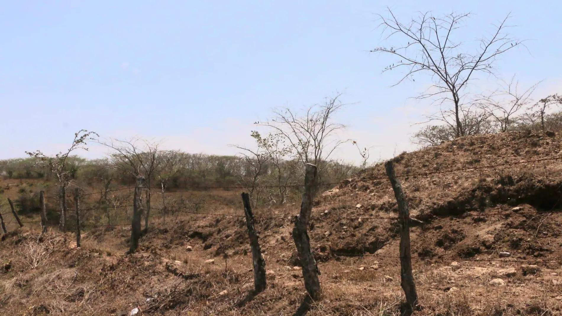
<path fill-rule="evenodd" d="M 498 63 L 504 77 L 545 80 L 560 92 L 562 3 L 528 1 L 0 1 L 0 159 L 55 153 L 79 129 L 102 137 L 165 139 L 168 148 L 233 154 L 250 145 L 252 122 L 277 106 L 301 107 L 336 92 L 345 137 L 388 158 L 411 150 L 421 114 L 407 100 L 427 87 L 390 86 L 393 60 L 377 13 L 473 12 L 459 36 L 474 39 L 511 12 L 526 49 Z M 424 86 L 425 84 L 425 86 Z M 103 155 L 99 148 L 85 154 Z M 357 160 L 351 146 L 337 157 Z"/>

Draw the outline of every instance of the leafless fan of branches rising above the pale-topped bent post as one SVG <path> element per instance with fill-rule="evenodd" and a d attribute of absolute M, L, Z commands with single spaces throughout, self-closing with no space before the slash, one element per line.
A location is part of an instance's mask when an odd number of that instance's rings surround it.
<path fill-rule="evenodd" d="M 333 121 L 333 115 L 344 106 L 340 97 L 326 98 L 323 105 L 308 107 L 302 116 L 287 107 L 276 109 L 273 119 L 256 125 L 273 129 L 291 147 L 294 159 L 314 164 L 321 172 L 334 150 L 347 142 L 336 137 L 345 125 Z"/>

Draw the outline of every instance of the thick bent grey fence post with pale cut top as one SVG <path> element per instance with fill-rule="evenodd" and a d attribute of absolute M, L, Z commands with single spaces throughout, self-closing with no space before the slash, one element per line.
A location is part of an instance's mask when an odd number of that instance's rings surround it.
<path fill-rule="evenodd" d="M 305 192 L 302 193 L 301 213 L 297 216 L 294 223 L 293 240 L 297 247 L 298 256 L 301 259 L 302 277 L 305 279 L 306 291 L 312 300 L 319 300 L 322 295 L 318 278 L 320 270 L 318 265 L 316 265 L 314 255 L 312 255 L 308 234 L 312 200 L 314 200 L 314 192 L 316 192 L 315 184 L 316 166 L 306 164 Z"/>

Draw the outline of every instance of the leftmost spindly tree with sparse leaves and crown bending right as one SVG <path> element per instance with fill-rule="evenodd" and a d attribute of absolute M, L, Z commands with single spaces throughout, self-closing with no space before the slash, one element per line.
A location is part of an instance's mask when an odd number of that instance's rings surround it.
<path fill-rule="evenodd" d="M 85 129 L 79 130 L 77 133 L 74 134 L 74 140 L 72 141 L 72 145 L 70 145 L 69 149 L 65 152 L 59 152 L 55 155 L 55 157 L 49 157 L 43 154 L 43 152 L 37 150 L 34 152 L 25 153 L 31 157 L 37 157 L 41 159 L 44 163 L 47 164 L 49 170 L 54 173 L 58 180 L 58 186 L 60 189 L 60 201 L 61 201 L 61 215 L 59 221 L 59 228 L 61 231 L 66 232 L 66 188 L 69 187 L 72 176 L 76 172 L 76 170 L 69 168 L 69 157 L 70 154 L 76 150 L 88 150 L 86 147 L 88 141 L 94 141 L 92 136 L 99 135 L 96 132 L 88 132 Z"/>

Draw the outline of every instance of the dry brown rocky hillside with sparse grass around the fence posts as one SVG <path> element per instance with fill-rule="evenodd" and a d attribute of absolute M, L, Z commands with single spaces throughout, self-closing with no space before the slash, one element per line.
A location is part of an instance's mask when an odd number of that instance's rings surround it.
<path fill-rule="evenodd" d="M 415 219 L 416 314 L 562 314 L 561 137 L 474 136 L 397 157 Z M 400 314 L 396 211 L 383 165 L 317 197 L 310 238 L 324 298 L 309 315 Z M 268 288 L 241 307 L 253 286 L 242 201 L 200 213 L 157 220 L 134 255 L 127 226 L 91 229 L 79 249 L 72 233 L 12 230 L 0 242 L 0 314 L 293 314 L 305 297 L 298 204 L 255 210 Z"/>

